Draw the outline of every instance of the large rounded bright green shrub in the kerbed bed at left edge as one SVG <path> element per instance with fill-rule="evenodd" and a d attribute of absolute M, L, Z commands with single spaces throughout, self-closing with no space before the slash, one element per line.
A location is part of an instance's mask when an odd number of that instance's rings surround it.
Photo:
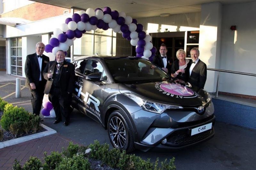
<path fill-rule="evenodd" d="M 16 122 L 27 122 L 28 112 L 24 108 L 17 106 L 13 107 L 10 104 L 6 104 L 4 108 L 4 114 L 1 117 L 0 124 L 4 130 L 9 130 L 10 125 Z"/>

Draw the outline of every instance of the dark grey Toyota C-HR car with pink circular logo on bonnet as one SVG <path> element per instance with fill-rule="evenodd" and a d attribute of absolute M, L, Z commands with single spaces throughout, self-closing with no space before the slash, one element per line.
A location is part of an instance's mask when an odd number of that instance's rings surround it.
<path fill-rule="evenodd" d="M 73 64 L 72 107 L 102 124 L 115 148 L 167 151 L 214 136 L 210 94 L 178 83 L 150 61 L 83 56 Z"/>

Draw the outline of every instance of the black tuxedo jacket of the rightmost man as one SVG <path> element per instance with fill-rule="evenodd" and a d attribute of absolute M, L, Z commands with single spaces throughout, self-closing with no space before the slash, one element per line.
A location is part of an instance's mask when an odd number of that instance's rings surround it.
<path fill-rule="evenodd" d="M 189 64 L 187 66 L 188 70 L 190 69 L 191 64 L 192 64 L 192 60 L 189 61 Z M 207 77 L 206 64 L 199 59 L 188 78 L 188 82 L 192 86 L 197 86 L 200 89 L 204 89 L 206 77 Z"/>

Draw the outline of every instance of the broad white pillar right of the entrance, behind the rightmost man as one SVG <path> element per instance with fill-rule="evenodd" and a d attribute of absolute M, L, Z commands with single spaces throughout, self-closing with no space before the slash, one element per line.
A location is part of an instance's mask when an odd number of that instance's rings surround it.
<path fill-rule="evenodd" d="M 219 2 L 202 4 L 200 17 L 199 59 L 207 68 L 219 68 L 222 5 Z M 217 72 L 207 71 L 204 86 L 208 92 L 216 92 Z"/>

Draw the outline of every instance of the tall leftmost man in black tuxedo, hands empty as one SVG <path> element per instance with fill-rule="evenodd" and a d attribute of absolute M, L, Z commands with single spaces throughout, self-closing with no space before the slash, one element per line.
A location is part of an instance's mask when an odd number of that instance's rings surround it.
<path fill-rule="evenodd" d="M 49 62 L 49 57 L 45 56 L 44 44 L 36 43 L 36 53 L 27 55 L 25 63 L 26 86 L 31 92 L 31 104 L 33 113 L 40 114 L 44 98 L 44 87 L 46 80 L 43 77 L 43 70 Z"/>

